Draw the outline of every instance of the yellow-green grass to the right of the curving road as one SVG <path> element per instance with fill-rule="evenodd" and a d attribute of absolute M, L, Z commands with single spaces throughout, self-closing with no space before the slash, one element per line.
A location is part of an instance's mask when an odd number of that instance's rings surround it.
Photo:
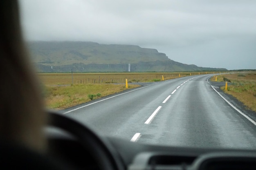
<path fill-rule="evenodd" d="M 227 91 L 225 86 L 221 89 L 243 102 L 248 109 L 256 111 L 256 72 L 218 75 L 217 82 L 224 81 L 224 78 L 230 80 L 232 85 L 227 87 Z M 212 77 L 211 81 L 215 78 Z"/>

